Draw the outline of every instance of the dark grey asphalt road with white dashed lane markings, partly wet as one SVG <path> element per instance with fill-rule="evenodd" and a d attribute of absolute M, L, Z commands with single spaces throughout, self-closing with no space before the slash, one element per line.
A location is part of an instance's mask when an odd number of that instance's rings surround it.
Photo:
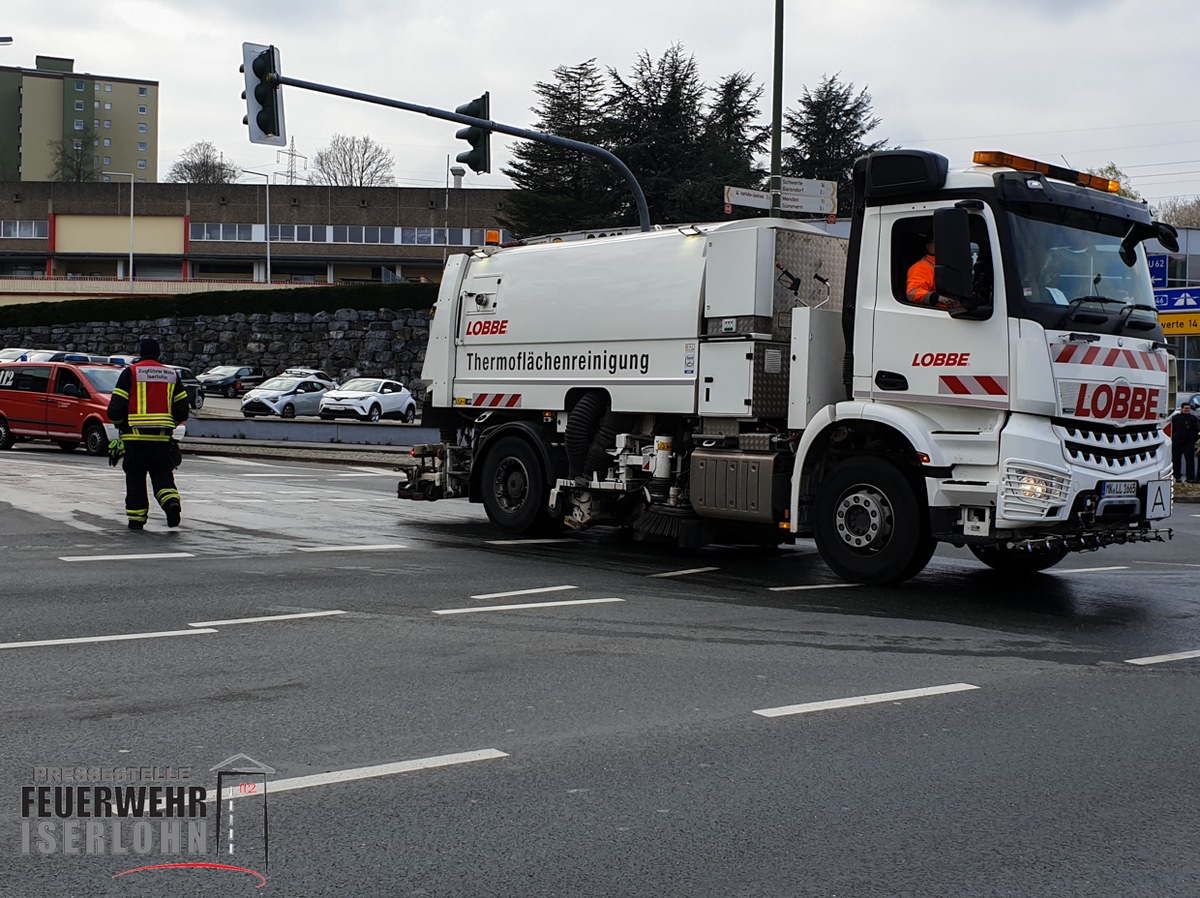
<path fill-rule="evenodd" d="M 190 456 L 184 526 L 136 534 L 106 460 L 2 461 L 2 894 L 1200 885 L 1200 660 L 1172 658 L 1200 649 L 1200 507 L 1168 544 L 1024 583 L 946 550 L 872 588 L 809 543 L 514 544 L 478 507 L 398 503 L 379 463 Z M 208 821 L 203 860 L 263 890 L 217 868 L 112 879 L 196 860 L 157 845 L 22 854 L 35 767 L 188 766 L 211 791 L 236 754 L 275 768 L 269 863 L 256 795 L 232 802 L 232 855 Z"/>

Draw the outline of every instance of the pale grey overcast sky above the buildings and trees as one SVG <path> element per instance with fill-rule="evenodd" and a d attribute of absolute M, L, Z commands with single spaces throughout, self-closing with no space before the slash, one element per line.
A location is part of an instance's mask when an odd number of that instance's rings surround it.
<path fill-rule="evenodd" d="M 706 83 L 743 71 L 770 112 L 774 0 L 7 0 L 0 65 L 74 59 L 89 74 L 157 80 L 160 176 L 208 139 L 244 168 L 282 169 L 241 124 L 241 43 L 274 43 L 287 76 L 452 109 L 490 90 L 492 118 L 534 124 L 533 85 L 595 58 L 628 76 L 672 43 Z M 872 139 L 966 164 L 977 149 L 1112 161 L 1152 203 L 1200 194 L 1196 0 L 786 0 L 784 104 L 838 73 L 874 98 Z M 370 136 L 401 185 L 442 185 L 467 149 L 457 126 L 295 88 L 287 131 L 312 157 L 334 133 Z M 493 136 L 490 175 L 510 138 Z M 304 161 L 299 162 L 302 169 Z M 653 215 L 653 210 L 652 215 Z"/>

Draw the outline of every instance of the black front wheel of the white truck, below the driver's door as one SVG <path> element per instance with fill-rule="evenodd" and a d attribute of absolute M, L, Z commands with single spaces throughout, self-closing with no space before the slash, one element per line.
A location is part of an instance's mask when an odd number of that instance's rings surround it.
<path fill-rule="evenodd" d="M 817 489 L 814 537 L 842 580 L 899 583 L 934 553 L 922 503 L 908 479 L 882 459 L 853 459 Z"/>

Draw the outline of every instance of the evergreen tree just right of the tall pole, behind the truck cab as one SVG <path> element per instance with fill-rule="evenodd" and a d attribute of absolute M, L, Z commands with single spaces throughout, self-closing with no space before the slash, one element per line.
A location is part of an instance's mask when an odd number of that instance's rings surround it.
<path fill-rule="evenodd" d="M 854 160 L 886 145 L 866 143 L 878 124 L 865 88 L 854 94 L 836 74 L 823 77 L 816 90 L 804 88 L 798 110 L 784 113 L 784 132 L 796 142 L 782 150 L 784 174 L 836 181 L 838 214 L 845 215 L 853 202 Z"/>

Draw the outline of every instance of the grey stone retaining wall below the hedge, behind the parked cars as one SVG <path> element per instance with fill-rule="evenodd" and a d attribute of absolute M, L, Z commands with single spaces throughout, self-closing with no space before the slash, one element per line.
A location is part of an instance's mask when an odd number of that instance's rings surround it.
<path fill-rule="evenodd" d="M 260 365 L 268 375 L 293 366 L 318 367 L 343 381 L 358 375 L 394 377 L 418 402 L 425 397 L 419 378 L 430 339 L 427 309 L 80 322 L 0 330 L 0 345 L 126 355 L 137 352 L 143 336 L 158 340 L 163 361 L 196 373 L 214 365 Z"/>

